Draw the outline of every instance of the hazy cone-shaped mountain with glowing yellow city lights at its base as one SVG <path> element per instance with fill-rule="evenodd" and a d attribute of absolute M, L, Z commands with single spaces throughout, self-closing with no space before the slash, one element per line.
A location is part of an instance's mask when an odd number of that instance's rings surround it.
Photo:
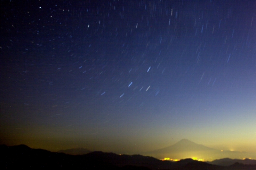
<path fill-rule="evenodd" d="M 145 156 L 152 156 L 158 159 L 186 159 L 197 158 L 204 160 L 215 160 L 220 158 L 244 159 L 256 158 L 255 153 L 237 152 L 237 151 L 220 151 L 217 149 L 206 147 L 202 144 L 196 144 L 188 139 L 182 139 L 178 143 L 169 147 L 158 149 L 151 152 L 141 153 Z"/>

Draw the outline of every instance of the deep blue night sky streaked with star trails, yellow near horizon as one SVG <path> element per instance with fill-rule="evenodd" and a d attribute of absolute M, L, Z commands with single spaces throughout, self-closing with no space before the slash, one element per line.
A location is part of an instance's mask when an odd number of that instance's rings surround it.
<path fill-rule="evenodd" d="M 0 1 L 0 144 L 256 152 L 253 0 Z"/>

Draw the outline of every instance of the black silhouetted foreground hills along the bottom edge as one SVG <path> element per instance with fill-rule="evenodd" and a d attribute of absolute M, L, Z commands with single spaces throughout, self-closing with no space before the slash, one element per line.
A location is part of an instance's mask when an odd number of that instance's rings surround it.
<path fill-rule="evenodd" d="M 1 169 L 111 169 L 111 170 L 256 170 L 256 165 L 235 163 L 230 166 L 211 165 L 192 159 L 178 162 L 161 161 L 141 155 L 117 155 L 91 152 L 85 155 L 68 155 L 42 149 L 31 149 L 26 145 L 0 145 Z"/>

